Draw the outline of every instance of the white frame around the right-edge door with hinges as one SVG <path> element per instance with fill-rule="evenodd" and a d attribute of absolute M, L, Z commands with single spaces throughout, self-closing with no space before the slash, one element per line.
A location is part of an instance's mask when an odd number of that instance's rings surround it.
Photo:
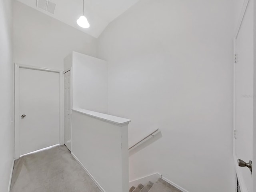
<path fill-rule="evenodd" d="M 237 180 L 240 185 L 241 192 L 248 192 L 247 187 L 245 185 L 244 179 L 242 177 L 242 173 L 240 172 L 240 168 L 237 163 L 237 156 L 236 156 L 236 39 L 238 37 L 244 15 L 246 13 L 246 9 L 248 7 L 249 0 L 244 0 L 244 4 L 242 6 L 241 14 L 238 20 L 238 24 L 236 26 L 234 39 L 233 39 L 233 50 L 234 50 L 234 84 L 233 84 L 233 157 L 234 157 L 234 166 L 235 166 L 235 189 L 237 191 Z"/>

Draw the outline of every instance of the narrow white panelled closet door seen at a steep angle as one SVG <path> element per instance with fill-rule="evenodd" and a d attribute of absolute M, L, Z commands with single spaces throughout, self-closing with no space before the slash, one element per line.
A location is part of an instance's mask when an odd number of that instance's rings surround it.
<path fill-rule="evenodd" d="M 71 151 L 71 72 L 64 73 L 64 144 Z"/>

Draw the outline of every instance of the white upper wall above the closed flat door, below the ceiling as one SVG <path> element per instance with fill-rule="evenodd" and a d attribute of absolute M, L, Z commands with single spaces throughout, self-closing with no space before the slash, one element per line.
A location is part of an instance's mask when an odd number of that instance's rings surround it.
<path fill-rule="evenodd" d="M 18 1 L 14 3 L 14 62 L 63 69 L 72 51 L 96 55 L 95 38 Z"/>

